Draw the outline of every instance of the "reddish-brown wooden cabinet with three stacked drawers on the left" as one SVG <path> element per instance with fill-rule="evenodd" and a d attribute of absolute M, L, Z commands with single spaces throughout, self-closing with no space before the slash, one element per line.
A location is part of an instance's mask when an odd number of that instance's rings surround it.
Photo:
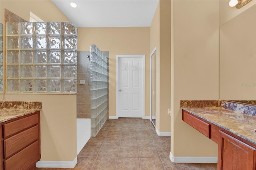
<path fill-rule="evenodd" d="M 34 169 L 40 150 L 40 111 L 0 124 L 0 170 Z"/>

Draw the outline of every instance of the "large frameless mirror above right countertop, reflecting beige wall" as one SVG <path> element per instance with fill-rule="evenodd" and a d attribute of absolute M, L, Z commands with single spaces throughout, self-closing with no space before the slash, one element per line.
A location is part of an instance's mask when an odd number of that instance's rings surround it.
<path fill-rule="evenodd" d="M 256 5 L 220 26 L 220 99 L 256 99 Z"/>

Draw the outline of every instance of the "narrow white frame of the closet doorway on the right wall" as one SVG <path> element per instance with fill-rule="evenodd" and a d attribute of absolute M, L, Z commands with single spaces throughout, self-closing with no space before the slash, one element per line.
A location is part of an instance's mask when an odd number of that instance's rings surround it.
<path fill-rule="evenodd" d="M 156 47 L 150 53 L 150 121 L 151 122 L 152 122 L 152 83 L 153 83 L 152 82 L 152 55 L 153 55 L 154 52 L 156 52 Z M 155 69 L 156 69 L 156 61 L 155 61 Z M 155 80 L 156 80 L 156 77 L 155 77 Z M 155 87 L 156 87 L 156 84 L 155 84 Z M 156 91 L 155 91 L 155 102 L 156 102 Z M 155 105 L 155 114 L 156 114 L 156 105 Z M 156 115 L 155 115 L 155 118 L 156 118 Z M 156 127 L 156 123 L 155 123 L 154 126 Z"/>

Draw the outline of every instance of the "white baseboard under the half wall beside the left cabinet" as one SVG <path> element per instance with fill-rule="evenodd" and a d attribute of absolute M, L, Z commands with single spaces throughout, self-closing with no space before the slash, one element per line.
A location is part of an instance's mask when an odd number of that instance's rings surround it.
<path fill-rule="evenodd" d="M 73 161 L 47 161 L 36 162 L 37 168 L 74 168 L 77 164 L 77 157 Z"/>

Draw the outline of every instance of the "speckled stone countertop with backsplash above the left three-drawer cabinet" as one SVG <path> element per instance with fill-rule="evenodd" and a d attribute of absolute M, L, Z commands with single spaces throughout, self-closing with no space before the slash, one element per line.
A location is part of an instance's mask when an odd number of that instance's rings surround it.
<path fill-rule="evenodd" d="M 0 102 L 0 123 L 29 115 L 42 109 L 41 102 Z"/>

